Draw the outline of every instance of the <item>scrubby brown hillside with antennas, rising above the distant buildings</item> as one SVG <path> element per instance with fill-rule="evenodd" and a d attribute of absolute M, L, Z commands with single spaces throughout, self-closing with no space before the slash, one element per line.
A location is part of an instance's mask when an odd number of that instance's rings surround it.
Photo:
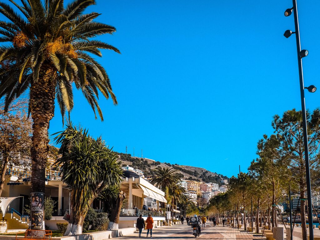
<path fill-rule="evenodd" d="M 174 168 L 179 170 L 181 178 L 186 180 L 198 180 L 203 182 L 218 183 L 219 186 L 222 185 L 220 180 L 228 179 L 228 177 L 218 174 L 216 172 L 210 172 L 204 168 L 185 166 L 170 163 L 161 163 L 159 161 L 154 161 L 148 158 L 132 157 L 130 154 L 118 153 L 119 158 L 123 166 L 129 165 L 130 167 L 140 169 L 144 171 L 144 175 L 152 175 L 153 170 L 156 167 Z M 228 179 L 229 180 L 229 179 Z"/>

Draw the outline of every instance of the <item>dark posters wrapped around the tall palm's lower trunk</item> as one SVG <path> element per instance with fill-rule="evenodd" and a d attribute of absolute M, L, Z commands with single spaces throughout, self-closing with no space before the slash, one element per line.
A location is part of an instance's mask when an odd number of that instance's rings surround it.
<path fill-rule="evenodd" d="M 44 193 L 31 193 L 31 229 L 43 229 Z"/>

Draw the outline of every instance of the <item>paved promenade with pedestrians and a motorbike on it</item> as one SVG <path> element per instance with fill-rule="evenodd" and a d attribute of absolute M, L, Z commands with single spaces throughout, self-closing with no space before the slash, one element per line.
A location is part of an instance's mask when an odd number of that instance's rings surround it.
<path fill-rule="evenodd" d="M 222 227 L 216 226 L 213 227 L 212 222 L 207 223 L 206 229 L 201 229 L 200 239 L 266 239 L 265 237 L 261 238 L 261 235 L 250 234 L 243 229 L 237 230 L 237 228 L 231 227 Z M 141 234 L 141 238 L 145 238 L 147 236 L 147 230 L 143 230 Z M 150 236 L 149 236 L 150 237 Z M 137 239 L 139 238 L 138 233 L 131 234 L 129 236 L 117 237 L 116 239 Z M 177 224 L 171 227 L 161 227 L 154 228 L 152 238 L 155 239 L 192 239 L 195 238 L 192 235 L 191 226 L 187 226 L 186 223 L 184 225 Z"/>

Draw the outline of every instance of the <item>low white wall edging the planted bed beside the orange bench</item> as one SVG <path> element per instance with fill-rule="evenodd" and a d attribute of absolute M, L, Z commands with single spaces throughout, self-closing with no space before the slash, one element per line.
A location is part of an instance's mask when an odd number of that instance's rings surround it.
<path fill-rule="evenodd" d="M 113 231 L 101 231 L 93 233 L 84 233 L 74 236 L 52 237 L 52 240 L 104 240 L 118 236 L 125 236 L 131 233 L 135 233 L 136 228 L 122 228 Z M 0 235 L 0 240 L 14 240 L 16 236 Z M 18 236 L 18 239 L 24 238 L 24 236 Z"/>

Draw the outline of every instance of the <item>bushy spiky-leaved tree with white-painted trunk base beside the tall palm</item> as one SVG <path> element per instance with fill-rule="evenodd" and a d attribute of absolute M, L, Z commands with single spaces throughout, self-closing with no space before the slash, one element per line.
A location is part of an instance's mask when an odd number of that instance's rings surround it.
<path fill-rule="evenodd" d="M 71 124 L 55 137 L 61 144 L 62 180 L 71 193 L 71 213 L 65 236 L 82 233 L 82 225 L 90 204 L 106 187 L 119 186 L 122 168 L 117 155 L 108 149 L 101 138 L 93 139 L 88 131 Z M 121 208 L 121 206 L 120 206 Z"/>

